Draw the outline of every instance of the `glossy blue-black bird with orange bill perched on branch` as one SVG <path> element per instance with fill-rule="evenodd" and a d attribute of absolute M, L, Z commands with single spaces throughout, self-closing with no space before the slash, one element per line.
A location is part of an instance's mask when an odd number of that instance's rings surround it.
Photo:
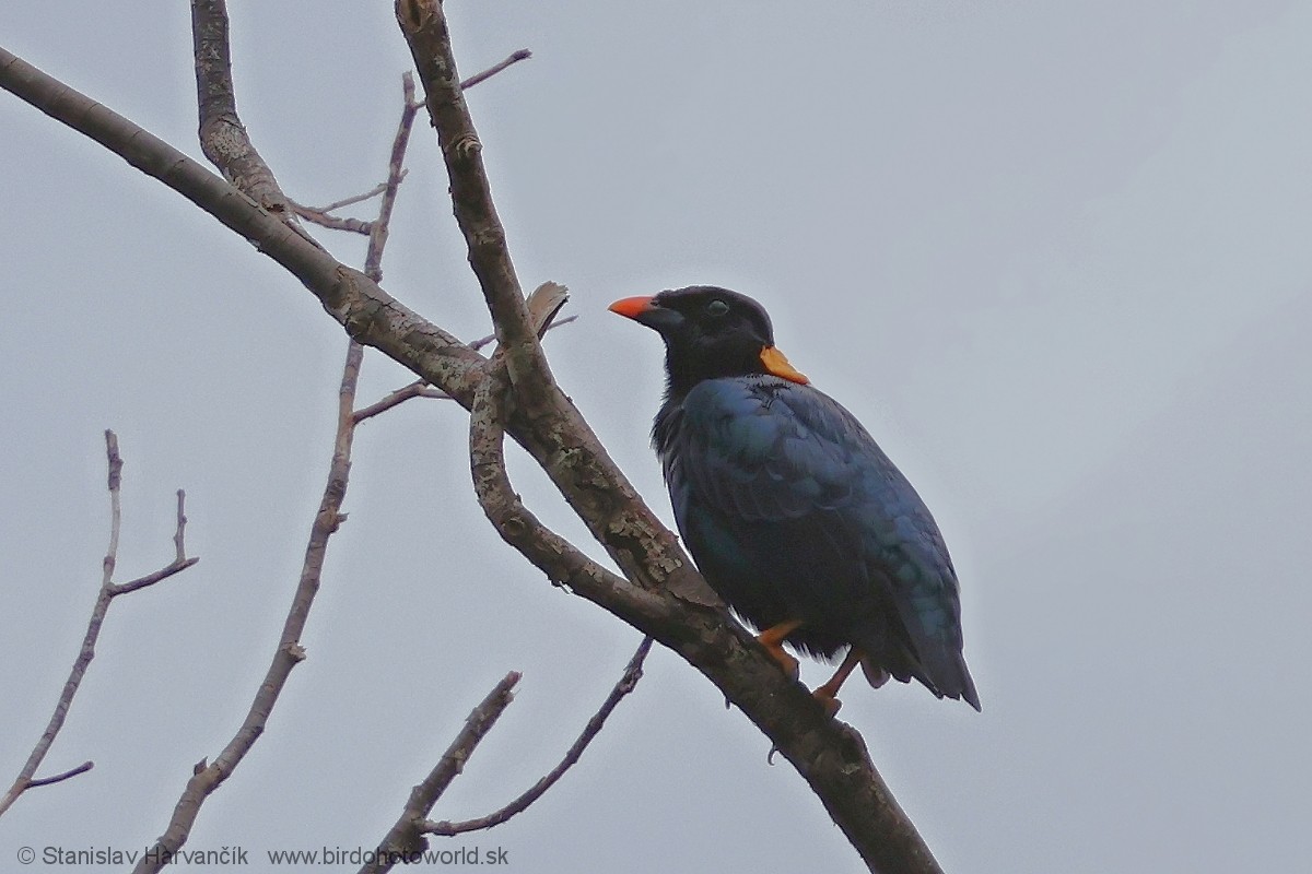
<path fill-rule="evenodd" d="M 876 688 L 914 677 L 979 710 L 934 518 L 855 417 L 774 347 L 765 309 L 712 286 L 610 309 L 665 341 L 652 446 L 674 520 L 757 641 L 792 676 L 783 643 L 825 659 L 848 647 L 815 692 L 830 712 L 858 663 Z"/>

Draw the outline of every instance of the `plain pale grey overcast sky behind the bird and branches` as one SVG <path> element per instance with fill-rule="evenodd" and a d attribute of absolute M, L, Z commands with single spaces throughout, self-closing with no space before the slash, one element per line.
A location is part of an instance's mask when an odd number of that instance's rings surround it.
<path fill-rule="evenodd" d="M 379 182 L 409 68 L 391 4 L 230 5 L 243 119 L 287 193 Z M 670 518 L 647 446 L 660 346 L 605 305 L 705 282 L 762 300 L 933 508 L 984 713 L 853 684 L 841 715 L 947 870 L 1305 865 L 1312 3 L 449 14 L 462 73 L 534 52 L 470 104 L 522 282 L 573 292 L 555 373 L 652 506 Z M 186 4 L 7 0 L 0 45 L 201 159 Z M 8 94 L 0 144 L 5 785 L 98 586 L 105 427 L 127 463 L 119 578 L 169 560 L 177 487 L 202 560 L 112 608 L 43 772 L 96 769 L 0 822 L 8 870 L 22 845 L 147 845 L 237 727 L 327 474 L 345 338 L 248 244 Z M 409 165 L 383 284 L 480 337 L 422 123 Z M 361 397 L 407 381 L 370 355 Z M 258 869 L 266 849 L 373 846 L 522 670 L 434 818 L 488 812 L 618 677 L 639 636 L 501 544 L 466 422 L 416 401 L 362 426 L 308 659 L 190 848 Z M 586 544 L 531 463 L 512 474 Z M 657 650 L 530 812 L 434 844 L 502 846 L 525 874 L 861 870 L 766 752 Z"/>

